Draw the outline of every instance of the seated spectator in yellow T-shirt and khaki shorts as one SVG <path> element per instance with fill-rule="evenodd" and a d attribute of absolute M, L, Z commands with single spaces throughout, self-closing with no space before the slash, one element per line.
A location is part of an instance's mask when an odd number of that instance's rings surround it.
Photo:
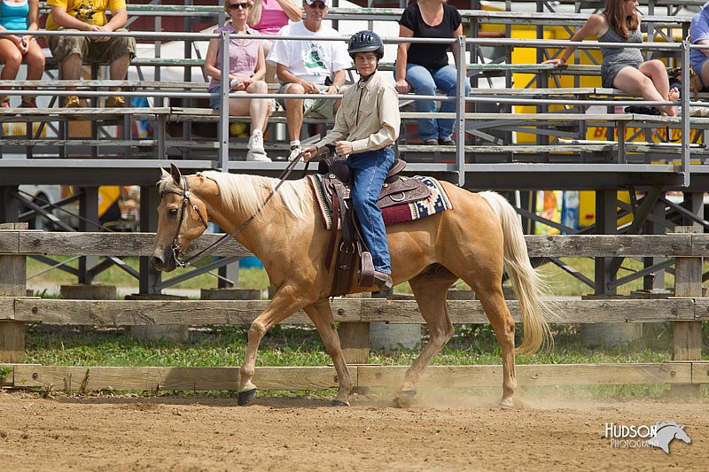
<path fill-rule="evenodd" d="M 125 0 L 47 0 L 50 15 L 47 29 L 90 32 L 127 32 L 128 21 Z M 106 6 L 111 20 L 106 19 Z M 62 79 L 78 81 L 85 59 L 110 63 L 112 81 L 125 80 L 130 59 L 136 55 L 136 39 L 108 36 L 51 36 L 51 54 L 61 65 Z M 120 88 L 113 88 L 115 91 Z M 124 97 L 108 97 L 105 106 L 125 106 Z M 80 106 L 79 97 L 64 99 L 64 106 Z"/>

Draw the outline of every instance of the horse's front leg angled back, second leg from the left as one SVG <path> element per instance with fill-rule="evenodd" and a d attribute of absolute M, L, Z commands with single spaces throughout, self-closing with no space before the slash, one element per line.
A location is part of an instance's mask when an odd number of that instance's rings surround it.
<path fill-rule="evenodd" d="M 332 358 L 335 371 L 338 373 L 338 395 L 332 400 L 333 406 L 349 406 L 349 392 L 352 391 L 352 377 L 347 370 L 347 362 L 342 355 L 342 348 L 339 344 L 338 331 L 335 329 L 335 319 L 332 317 L 332 310 L 327 298 L 321 298 L 311 306 L 303 308 L 308 313 L 310 320 L 316 325 L 317 332 L 325 344 L 325 350 Z"/>

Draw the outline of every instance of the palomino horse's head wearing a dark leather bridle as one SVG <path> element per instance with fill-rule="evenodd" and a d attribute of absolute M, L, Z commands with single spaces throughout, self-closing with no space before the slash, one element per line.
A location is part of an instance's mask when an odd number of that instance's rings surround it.
<path fill-rule="evenodd" d="M 204 202 L 192 193 L 188 177 L 175 164 L 170 173 L 163 169 L 158 206 L 158 231 L 150 262 L 157 270 L 169 272 L 192 241 L 204 233 L 207 214 Z"/>

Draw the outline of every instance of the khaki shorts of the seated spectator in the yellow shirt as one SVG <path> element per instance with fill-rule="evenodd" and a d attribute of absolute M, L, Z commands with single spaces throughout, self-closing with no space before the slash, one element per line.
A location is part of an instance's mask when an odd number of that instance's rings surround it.
<path fill-rule="evenodd" d="M 59 28 L 58 31 L 79 31 L 78 29 Z M 116 33 L 126 33 L 128 29 L 119 28 Z M 78 54 L 83 60 L 113 62 L 126 54 L 136 57 L 136 38 L 129 36 L 113 37 L 105 43 L 90 41 L 87 36 L 50 36 L 51 55 L 63 62 L 72 54 Z"/>

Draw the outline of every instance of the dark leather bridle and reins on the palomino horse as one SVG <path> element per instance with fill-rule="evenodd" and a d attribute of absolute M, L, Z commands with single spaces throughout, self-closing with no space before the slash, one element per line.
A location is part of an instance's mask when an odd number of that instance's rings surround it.
<path fill-rule="evenodd" d="M 293 159 L 288 166 L 285 167 L 283 173 L 278 177 L 279 181 L 276 184 L 276 187 L 274 187 L 273 190 L 270 191 L 269 195 L 263 200 L 263 203 L 256 209 L 256 211 L 248 218 L 248 220 L 244 221 L 244 223 L 241 224 L 240 227 L 237 228 L 236 231 L 234 231 L 231 234 L 225 234 L 224 236 L 220 237 L 218 240 L 214 241 L 214 243 L 209 244 L 206 246 L 205 249 L 202 251 L 199 251 L 197 254 L 191 256 L 191 258 L 186 259 L 186 260 L 180 260 L 179 259 L 179 253 L 180 253 L 180 246 L 177 244 L 177 238 L 180 236 L 180 231 L 183 226 L 183 221 L 184 221 L 184 214 L 187 211 L 187 207 L 191 206 L 191 208 L 197 212 L 197 215 L 199 216 L 199 220 L 202 221 L 202 224 L 205 225 L 205 228 L 207 228 L 206 225 L 206 220 L 204 216 L 202 216 L 202 213 L 199 212 L 199 208 L 197 205 L 192 204 L 191 201 L 191 191 L 190 191 L 190 184 L 187 182 L 187 177 L 183 177 L 183 191 L 175 191 L 175 190 L 164 190 L 160 192 L 160 197 L 163 196 L 165 193 L 174 193 L 175 195 L 179 195 L 183 197 L 183 204 L 180 208 L 180 221 L 177 223 L 177 229 L 175 230 L 175 237 L 172 240 L 172 244 L 170 245 L 170 249 L 172 251 L 173 257 L 175 258 L 175 262 L 177 266 L 179 267 L 189 267 L 196 260 L 202 259 L 208 255 L 210 255 L 212 252 L 216 251 L 219 247 L 221 247 L 223 244 L 226 244 L 226 242 L 234 237 L 236 237 L 239 233 L 241 233 L 255 218 L 256 216 L 261 213 L 261 210 L 266 206 L 266 204 L 269 203 L 269 200 L 276 194 L 278 191 L 278 188 L 285 182 L 285 179 L 288 178 L 288 175 L 292 173 L 293 168 L 295 168 L 295 165 L 298 164 L 300 159 L 302 158 L 303 152 L 301 152 L 296 159 Z M 305 166 L 305 170 L 303 171 L 303 174 L 308 172 L 308 165 L 310 164 L 310 161 Z"/>

